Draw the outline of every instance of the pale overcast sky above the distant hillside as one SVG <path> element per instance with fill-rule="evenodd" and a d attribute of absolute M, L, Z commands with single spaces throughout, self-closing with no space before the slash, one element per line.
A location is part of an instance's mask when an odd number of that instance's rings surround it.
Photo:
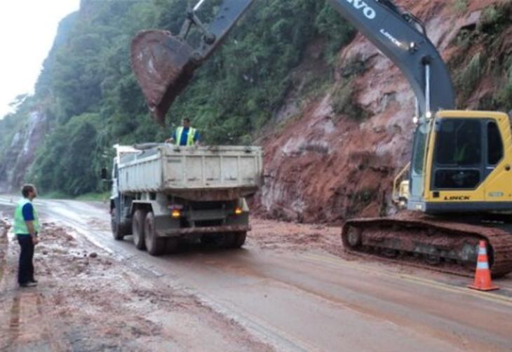
<path fill-rule="evenodd" d="M 17 95 L 33 93 L 57 27 L 80 0 L 0 0 L 0 119 Z"/>

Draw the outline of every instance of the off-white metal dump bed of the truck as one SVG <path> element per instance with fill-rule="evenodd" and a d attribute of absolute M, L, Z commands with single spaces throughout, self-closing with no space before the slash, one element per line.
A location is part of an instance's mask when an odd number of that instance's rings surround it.
<path fill-rule="evenodd" d="M 159 144 L 121 157 L 119 191 L 166 192 L 189 199 L 250 196 L 262 184 L 261 147 Z"/>

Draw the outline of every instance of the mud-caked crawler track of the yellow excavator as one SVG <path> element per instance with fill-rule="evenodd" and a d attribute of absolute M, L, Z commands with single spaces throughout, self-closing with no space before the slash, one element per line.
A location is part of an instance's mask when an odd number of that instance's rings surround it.
<path fill-rule="evenodd" d="M 494 278 L 512 271 L 512 233 L 426 216 L 351 219 L 342 227 L 345 250 L 436 271 L 472 276 L 478 243 L 487 242 Z"/>

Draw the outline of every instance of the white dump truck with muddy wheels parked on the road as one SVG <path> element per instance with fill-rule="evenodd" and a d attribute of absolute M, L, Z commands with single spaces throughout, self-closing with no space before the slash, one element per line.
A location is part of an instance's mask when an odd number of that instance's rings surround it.
<path fill-rule="evenodd" d="M 245 197 L 262 184 L 260 147 L 116 145 L 112 233 L 151 255 L 173 252 L 181 239 L 239 248 L 249 227 Z M 107 178 L 107 170 L 102 170 Z"/>

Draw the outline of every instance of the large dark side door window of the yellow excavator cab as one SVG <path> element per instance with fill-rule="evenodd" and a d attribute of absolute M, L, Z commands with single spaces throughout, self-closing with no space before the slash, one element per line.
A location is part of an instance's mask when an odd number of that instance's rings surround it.
<path fill-rule="evenodd" d="M 435 189 L 475 189 L 483 175 L 483 123 L 441 119 L 436 126 Z"/>

